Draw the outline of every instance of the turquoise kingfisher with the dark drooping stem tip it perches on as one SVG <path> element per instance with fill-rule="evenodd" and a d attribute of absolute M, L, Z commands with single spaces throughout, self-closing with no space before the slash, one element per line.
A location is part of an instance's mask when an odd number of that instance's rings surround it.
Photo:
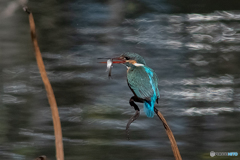
<path fill-rule="evenodd" d="M 135 114 L 129 119 L 126 132 L 130 124 L 140 115 L 140 109 L 135 102 L 143 103 L 144 112 L 147 117 L 154 117 L 154 105 L 160 98 L 158 90 L 158 77 L 153 69 L 146 65 L 142 56 L 137 53 L 124 53 L 119 57 L 111 58 L 112 63 L 122 63 L 127 68 L 127 83 L 133 92 L 129 104 L 134 107 Z M 129 139 L 129 137 L 128 137 Z"/>

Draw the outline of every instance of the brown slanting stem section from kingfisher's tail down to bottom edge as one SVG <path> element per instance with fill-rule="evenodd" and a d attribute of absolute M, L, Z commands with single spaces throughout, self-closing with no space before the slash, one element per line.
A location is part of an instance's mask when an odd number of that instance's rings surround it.
<path fill-rule="evenodd" d="M 170 143 L 171 143 L 171 147 L 172 147 L 172 151 L 173 151 L 173 154 L 174 154 L 174 157 L 176 160 L 182 160 L 182 157 L 180 155 L 180 152 L 178 150 L 178 146 L 177 146 L 177 143 L 176 143 L 176 140 L 173 136 L 173 133 L 170 129 L 170 127 L 168 126 L 167 124 L 167 121 L 165 120 L 165 118 L 163 117 L 162 113 L 160 111 L 158 111 L 158 109 L 156 107 L 154 107 L 154 112 L 157 114 L 158 118 L 162 121 L 163 123 L 163 126 L 166 130 L 166 133 L 168 135 L 168 138 L 170 140 Z"/>

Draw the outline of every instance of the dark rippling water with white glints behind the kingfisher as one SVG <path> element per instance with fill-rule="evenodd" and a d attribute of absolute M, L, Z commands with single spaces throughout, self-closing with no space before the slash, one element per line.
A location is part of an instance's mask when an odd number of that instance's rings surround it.
<path fill-rule="evenodd" d="M 27 1 L 0 2 L 0 159 L 54 159 L 51 111 L 19 2 Z M 124 52 L 141 54 L 158 74 L 157 108 L 183 159 L 240 153 L 236 1 L 30 0 L 28 6 L 59 106 L 66 159 L 173 159 L 156 116 L 142 114 L 131 141 L 125 137 L 134 113 L 125 68 L 115 65 L 108 80 L 106 66 L 97 63 Z"/>

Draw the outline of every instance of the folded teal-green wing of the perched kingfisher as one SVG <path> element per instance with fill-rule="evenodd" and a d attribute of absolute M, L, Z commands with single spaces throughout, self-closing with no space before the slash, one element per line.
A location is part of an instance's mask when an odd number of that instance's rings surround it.
<path fill-rule="evenodd" d="M 155 89 L 156 95 L 159 95 L 158 81 L 156 74 L 153 72 L 152 69 L 148 68 L 149 73 L 146 71 L 146 67 L 136 67 L 133 70 L 129 70 L 127 74 L 128 84 L 135 95 L 141 99 L 150 100 L 151 97 L 154 95 L 153 88 Z M 152 83 L 150 82 L 150 76 Z"/>

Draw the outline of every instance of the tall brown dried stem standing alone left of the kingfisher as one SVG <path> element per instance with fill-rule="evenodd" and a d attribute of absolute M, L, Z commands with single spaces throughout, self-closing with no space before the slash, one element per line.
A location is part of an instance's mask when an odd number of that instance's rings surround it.
<path fill-rule="evenodd" d="M 39 68 L 43 83 L 45 85 L 48 102 L 50 104 L 50 108 L 52 111 L 52 119 L 53 119 L 54 134 L 55 134 L 55 145 L 56 145 L 56 158 L 57 160 L 64 160 L 62 129 L 61 129 L 61 123 L 60 123 L 56 99 L 52 90 L 52 86 L 47 77 L 45 66 L 42 60 L 42 55 L 38 46 L 35 23 L 34 23 L 32 12 L 27 7 L 23 7 L 23 10 L 27 12 L 29 15 L 30 30 L 31 30 L 32 42 L 35 49 L 36 60 L 37 60 L 38 68 Z"/>

